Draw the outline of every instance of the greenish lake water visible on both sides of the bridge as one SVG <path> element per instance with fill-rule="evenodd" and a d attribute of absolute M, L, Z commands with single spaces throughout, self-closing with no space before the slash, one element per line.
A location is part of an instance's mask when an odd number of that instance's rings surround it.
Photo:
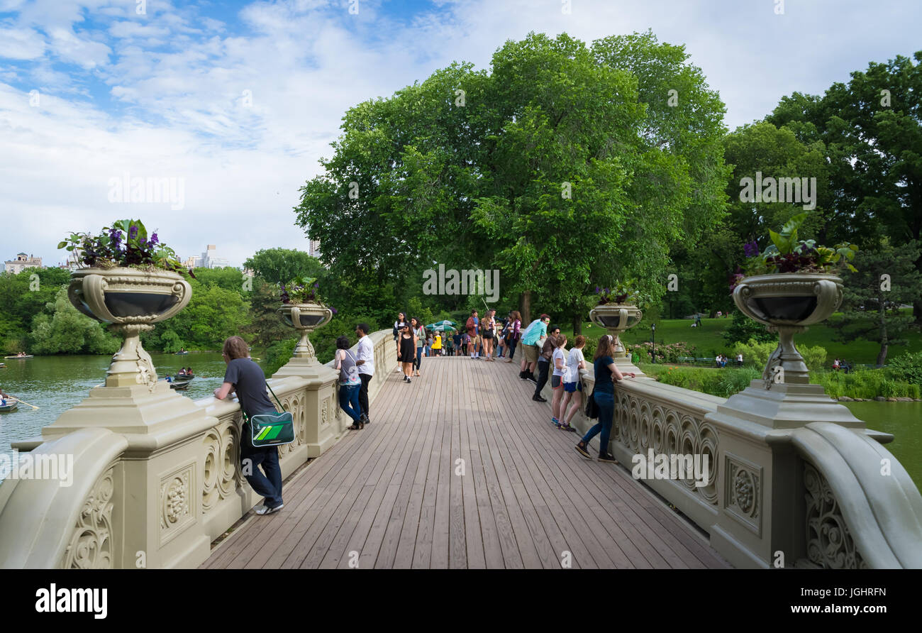
<path fill-rule="evenodd" d="M 183 356 L 151 353 L 161 378 L 191 366 L 195 380 L 186 391 L 197 400 L 219 387 L 227 366 L 217 352 L 190 352 Z M 0 453 L 12 454 L 10 442 L 41 435 L 41 427 L 83 400 L 89 389 L 105 380 L 109 356 L 37 356 L 29 360 L 6 360 L 0 369 L 0 387 L 39 407 L 23 404 L 16 412 L 0 413 Z M 900 460 L 922 489 L 922 402 L 848 402 L 846 406 L 870 428 L 892 433 L 885 445 Z"/>

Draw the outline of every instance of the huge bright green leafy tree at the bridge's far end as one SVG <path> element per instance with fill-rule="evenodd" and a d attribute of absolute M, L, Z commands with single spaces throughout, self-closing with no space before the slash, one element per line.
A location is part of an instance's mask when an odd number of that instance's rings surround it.
<path fill-rule="evenodd" d="M 393 309 L 438 263 L 501 269 L 526 317 L 535 293 L 581 322 L 593 285 L 630 277 L 658 296 L 669 245 L 724 205 L 724 109 L 687 56 L 649 33 L 592 49 L 529 34 L 492 74 L 453 64 L 361 103 L 302 187 L 297 223 L 344 289 L 393 284 L 396 302 L 377 304 Z M 670 81 L 679 107 L 659 95 Z"/>

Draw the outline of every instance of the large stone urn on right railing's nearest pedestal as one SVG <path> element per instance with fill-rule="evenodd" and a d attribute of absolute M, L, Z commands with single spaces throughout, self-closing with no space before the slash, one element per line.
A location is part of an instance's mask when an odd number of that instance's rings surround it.
<path fill-rule="evenodd" d="M 756 275 L 739 281 L 733 301 L 747 317 L 778 332 L 778 347 L 762 372 L 765 388 L 774 382 L 810 384 L 810 372 L 794 345 L 794 335 L 829 318 L 842 305 L 842 280 L 821 273 Z"/>

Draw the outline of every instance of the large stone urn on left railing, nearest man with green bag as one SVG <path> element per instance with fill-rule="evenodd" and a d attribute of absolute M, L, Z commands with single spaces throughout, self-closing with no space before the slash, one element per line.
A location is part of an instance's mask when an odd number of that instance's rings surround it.
<path fill-rule="evenodd" d="M 124 338 L 122 349 L 112 356 L 106 387 L 154 388 L 157 372 L 139 337 L 189 303 L 189 282 L 169 270 L 77 269 L 71 273 L 67 297 L 77 310 L 109 324 Z"/>

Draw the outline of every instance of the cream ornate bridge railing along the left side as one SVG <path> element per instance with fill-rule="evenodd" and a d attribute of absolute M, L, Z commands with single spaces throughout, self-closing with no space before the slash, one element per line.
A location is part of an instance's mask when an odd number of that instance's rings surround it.
<path fill-rule="evenodd" d="M 390 330 L 370 336 L 373 399 L 394 342 Z M 294 442 L 279 448 L 283 477 L 333 446 L 349 424 L 327 365 L 290 364 L 293 371 L 269 380 L 294 420 Z M 95 388 L 41 438 L 14 445 L 36 464 L 70 456 L 73 472 L 68 484 L 51 477 L 0 484 L 0 567 L 196 567 L 254 507 L 259 497 L 241 472 L 239 403 L 132 389 Z"/>

